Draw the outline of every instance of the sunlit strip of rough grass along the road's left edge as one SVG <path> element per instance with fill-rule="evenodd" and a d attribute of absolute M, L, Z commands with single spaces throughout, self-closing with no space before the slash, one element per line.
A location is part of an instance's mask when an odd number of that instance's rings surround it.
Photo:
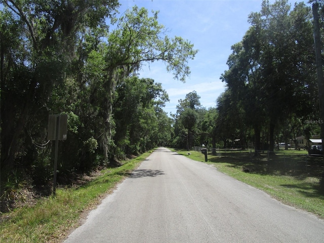
<path fill-rule="evenodd" d="M 78 188 L 59 188 L 56 197 L 43 198 L 35 206 L 2 215 L 0 242 L 61 242 L 80 219 L 99 204 L 116 184 L 151 154 L 144 153 L 123 166 L 102 171 L 94 180 Z"/>

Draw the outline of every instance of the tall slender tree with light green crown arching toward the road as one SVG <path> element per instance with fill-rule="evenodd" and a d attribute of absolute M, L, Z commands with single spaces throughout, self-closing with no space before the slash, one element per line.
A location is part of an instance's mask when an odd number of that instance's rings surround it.
<path fill-rule="evenodd" d="M 197 50 L 190 42 L 181 37 L 169 38 L 166 28 L 157 21 L 158 12 L 149 16 L 144 8 L 134 7 L 120 17 L 117 28 L 107 37 L 103 89 L 106 92 L 103 104 L 105 126 L 102 146 L 105 159 L 114 145 L 112 140 L 112 104 L 118 79 L 138 71 L 143 63 L 163 61 L 167 70 L 175 78 L 185 81 L 190 74 L 188 61 L 193 59 Z"/>

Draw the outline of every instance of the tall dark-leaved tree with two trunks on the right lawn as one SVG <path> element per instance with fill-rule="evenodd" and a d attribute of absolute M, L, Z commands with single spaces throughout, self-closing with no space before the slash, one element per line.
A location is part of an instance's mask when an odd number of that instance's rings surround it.
<path fill-rule="evenodd" d="M 310 9 L 303 3 L 290 8 L 287 1 L 263 1 L 260 13 L 249 16 L 252 26 L 233 46 L 229 70 L 222 76 L 232 99 L 239 97 L 247 124 L 254 127 L 256 149 L 261 128 L 269 131 L 273 151 L 280 120 L 306 116 L 316 103 Z"/>

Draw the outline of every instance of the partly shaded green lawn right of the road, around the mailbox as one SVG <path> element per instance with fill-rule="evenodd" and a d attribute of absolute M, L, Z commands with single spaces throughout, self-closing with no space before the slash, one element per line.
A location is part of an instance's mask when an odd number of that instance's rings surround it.
<path fill-rule="evenodd" d="M 205 155 L 201 152 L 186 150 L 177 152 L 205 163 Z M 307 169 L 309 165 L 301 167 L 300 162 L 297 162 L 296 159 L 298 154 L 286 153 L 284 158 L 281 156 L 278 154 L 270 161 L 262 159 L 251 161 L 248 152 L 226 156 L 208 154 L 207 163 L 213 165 L 220 172 L 265 191 L 284 204 L 306 210 L 324 219 L 324 179 L 321 177 L 324 166 L 322 160 L 311 158 L 307 162 L 314 164 L 311 167 L 312 171 Z M 304 157 L 297 158 L 298 161 L 304 159 Z"/>

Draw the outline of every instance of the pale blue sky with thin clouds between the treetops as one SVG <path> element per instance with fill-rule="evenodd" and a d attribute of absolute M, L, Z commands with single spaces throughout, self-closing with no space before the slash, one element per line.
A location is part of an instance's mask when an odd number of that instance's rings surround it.
<path fill-rule="evenodd" d="M 170 102 L 165 111 L 176 113 L 179 99 L 196 91 L 202 106 L 216 106 L 216 100 L 224 92 L 225 84 L 220 76 L 227 69 L 226 61 L 231 46 L 240 42 L 249 29 L 248 16 L 259 12 L 260 0 L 119 0 L 120 13 L 134 5 L 159 10 L 158 22 L 168 28 L 168 36 L 181 36 L 198 49 L 194 60 L 190 60 L 191 74 L 186 83 L 173 78 L 163 62 L 145 64 L 140 77 L 149 77 L 161 83 L 169 94 Z M 273 3 L 274 1 L 270 1 Z M 292 8 L 295 2 L 291 1 Z"/>

